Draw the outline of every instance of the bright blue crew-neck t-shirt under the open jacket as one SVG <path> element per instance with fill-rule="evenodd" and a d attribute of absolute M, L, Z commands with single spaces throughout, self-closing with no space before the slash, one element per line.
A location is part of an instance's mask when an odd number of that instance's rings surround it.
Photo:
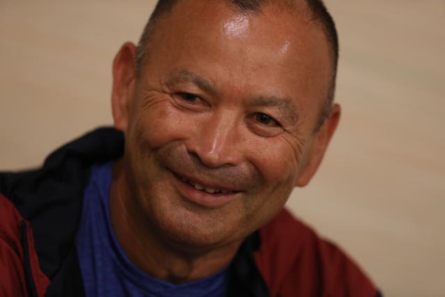
<path fill-rule="evenodd" d="M 84 192 L 76 248 L 86 296 L 225 296 L 227 269 L 201 280 L 172 284 L 141 271 L 129 260 L 110 219 L 112 168 L 112 163 L 94 166 Z"/>

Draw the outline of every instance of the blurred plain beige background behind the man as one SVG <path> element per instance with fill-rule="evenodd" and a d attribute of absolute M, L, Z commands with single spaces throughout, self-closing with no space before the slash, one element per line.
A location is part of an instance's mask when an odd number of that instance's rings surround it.
<path fill-rule="evenodd" d="M 341 125 L 288 207 L 386 296 L 445 296 L 445 1 L 326 3 Z M 154 1 L 0 0 L 0 170 L 111 125 L 111 63 Z"/>

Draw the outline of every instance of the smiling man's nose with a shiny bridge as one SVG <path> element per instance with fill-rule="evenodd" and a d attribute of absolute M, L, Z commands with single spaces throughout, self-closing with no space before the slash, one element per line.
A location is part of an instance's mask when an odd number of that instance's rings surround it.
<path fill-rule="evenodd" d="M 241 161 L 238 150 L 241 140 L 237 131 L 234 111 L 214 113 L 208 120 L 197 123 L 195 133 L 186 141 L 186 148 L 209 168 L 234 166 Z"/>

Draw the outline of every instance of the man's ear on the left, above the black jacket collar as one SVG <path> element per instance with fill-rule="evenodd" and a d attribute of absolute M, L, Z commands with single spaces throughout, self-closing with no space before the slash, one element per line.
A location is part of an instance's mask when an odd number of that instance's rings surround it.
<path fill-rule="evenodd" d="M 113 91 L 111 94 L 111 106 L 113 120 L 116 129 L 127 131 L 131 104 L 135 95 L 136 46 L 126 42 L 113 61 Z"/>

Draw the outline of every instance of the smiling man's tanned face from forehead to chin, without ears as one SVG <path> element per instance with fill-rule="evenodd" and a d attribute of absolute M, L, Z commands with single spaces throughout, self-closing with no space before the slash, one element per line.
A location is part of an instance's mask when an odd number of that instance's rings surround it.
<path fill-rule="evenodd" d="M 302 17 L 180 1 L 152 34 L 124 128 L 147 228 L 211 248 L 273 218 L 310 162 L 330 71 Z"/>

